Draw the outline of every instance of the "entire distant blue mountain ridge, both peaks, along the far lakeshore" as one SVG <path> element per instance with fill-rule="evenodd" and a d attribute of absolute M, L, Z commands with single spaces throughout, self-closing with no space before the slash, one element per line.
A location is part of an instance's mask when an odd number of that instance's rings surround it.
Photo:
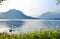
<path fill-rule="evenodd" d="M 27 16 L 22 11 L 11 9 L 0 13 L 0 19 L 42 19 L 42 20 L 60 20 L 59 12 L 45 12 L 37 18 Z"/>

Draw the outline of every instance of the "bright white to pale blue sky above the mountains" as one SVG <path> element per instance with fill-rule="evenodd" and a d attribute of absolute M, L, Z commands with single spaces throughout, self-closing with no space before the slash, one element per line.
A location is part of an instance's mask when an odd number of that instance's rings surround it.
<path fill-rule="evenodd" d="M 24 14 L 38 17 L 45 12 L 60 12 L 60 5 L 56 5 L 56 0 L 7 0 L 0 5 L 0 12 L 10 9 L 17 9 Z"/>

